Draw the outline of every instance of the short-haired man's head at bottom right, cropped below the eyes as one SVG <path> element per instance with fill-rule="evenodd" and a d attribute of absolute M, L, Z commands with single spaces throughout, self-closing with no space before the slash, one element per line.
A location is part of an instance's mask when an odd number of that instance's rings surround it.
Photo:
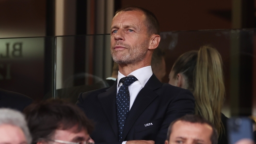
<path fill-rule="evenodd" d="M 214 126 L 200 115 L 185 115 L 173 121 L 165 144 L 217 144 Z"/>

